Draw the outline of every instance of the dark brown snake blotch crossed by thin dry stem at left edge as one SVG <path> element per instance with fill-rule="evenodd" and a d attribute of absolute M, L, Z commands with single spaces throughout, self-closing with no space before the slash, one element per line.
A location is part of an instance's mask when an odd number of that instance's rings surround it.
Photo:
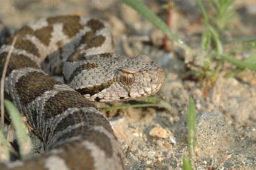
<path fill-rule="evenodd" d="M 2 75 L 3 66 L 6 62 L 7 52 L 0 54 L 0 73 Z M 10 61 L 8 63 L 8 68 L 6 70 L 6 77 L 12 72 L 14 69 L 22 69 L 26 67 L 32 67 L 35 69 L 39 69 L 39 67 L 30 60 L 30 58 L 26 57 L 25 55 L 15 55 L 12 54 Z"/>

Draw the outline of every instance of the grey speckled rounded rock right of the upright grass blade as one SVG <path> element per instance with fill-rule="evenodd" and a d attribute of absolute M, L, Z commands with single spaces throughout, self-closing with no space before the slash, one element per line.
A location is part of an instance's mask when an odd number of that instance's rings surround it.
<path fill-rule="evenodd" d="M 214 158 L 230 149 L 233 132 L 221 112 L 204 112 L 196 122 L 196 152 L 202 157 Z"/>

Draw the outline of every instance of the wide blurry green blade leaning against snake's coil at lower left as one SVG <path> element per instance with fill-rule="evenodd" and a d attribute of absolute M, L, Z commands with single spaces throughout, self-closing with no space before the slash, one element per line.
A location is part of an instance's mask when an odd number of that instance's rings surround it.
<path fill-rule="evenodd" d="M 8 114 L 12 119 L 12 124 L 17 135 L 17 143 L 20 148 L 20 157 L 29 157 L 32 150 L 32 142 L 30 137 L 26 134 L 25 125 L 21 119 L 18 109 L 12 104 L 11 101 L 4 100 L 4 105 Z"/>

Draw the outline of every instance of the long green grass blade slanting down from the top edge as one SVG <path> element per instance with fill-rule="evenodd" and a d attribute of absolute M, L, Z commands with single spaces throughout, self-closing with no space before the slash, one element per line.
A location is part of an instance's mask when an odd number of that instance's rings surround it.
<path fill-rule="evenodd" d="M 143 17 L 145 17 L 147 20 L 149 20 L 151 23 L 154 24 L 158 29 L 160 29 L 162 32 L 164 32 L 170 39 L 177 42 L 183 49 L 190 52 L 192 55 L 195 55 L 195 52 L 186 45 L 182 40 L 178 39 L 177 35 L 175 35 L 169 27 L 166 25 L 166 23 L 161 20 L 153 11 L 151 11 L 144 3 L 140 0 L 122 0 L 124 3 L 126 3 L 128 6 L 132 7 L 134 10 L 139 12 Z"/>

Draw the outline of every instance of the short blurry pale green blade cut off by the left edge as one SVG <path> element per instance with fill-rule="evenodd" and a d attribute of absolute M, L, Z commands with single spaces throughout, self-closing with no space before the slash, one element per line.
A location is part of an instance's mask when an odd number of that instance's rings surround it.
<path fill-rule="evenodd" d="M 9 161 L 10 153 L 7 145 L 7 139 L 3 135 L 3 132 L 0 131 L 0 161 Z"/>

